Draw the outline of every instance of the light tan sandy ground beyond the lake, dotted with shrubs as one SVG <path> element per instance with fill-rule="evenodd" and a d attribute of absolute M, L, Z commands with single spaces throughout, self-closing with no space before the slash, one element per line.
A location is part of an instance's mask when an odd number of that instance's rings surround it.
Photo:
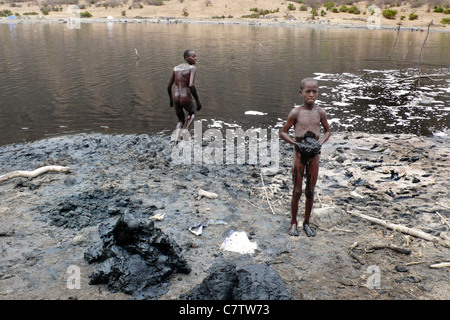
<path fill-rule="evenodd" d="M 102 3 L 106 3 L 102 2 Z M 361 11 L 360 14 L 349 14 L 349 13 L 333 13 L 331 11 L 326 12 L 325 16 L 318 16 L 314 20 L 311 19 L 311 8 L 307 11 L 300 11 L 299 4 L 295 3 L 296 10 L 288 10 L 287 6 L 290 2 L 288 1 L 277 1 L 277 0 L 241 0 L 241 1 L 228 1 L 228 0 L 168 0 L 164 1 L 164 5 L 154 6 L 154 5 L 143 5 L 143 8 L 134 7 L 132 2 L 127 4 L 120 4 L 116 6 L 96 6 L 87 4 L 81 9 L 81 12 L 88 11 L 92 14 L 91 21 L 95 19 L 104 19 L 111 16 L 115 19 L 133 19 L 139 18 L 150 18 L 150 19 L 181 19 L 183 21 L 209 21 L 209 22 L 234 22 L 234 23 L 289 23 L 289 24 L 299 24 L 299 23 L 316 23 L 316 24 L 330 24 L 330 25 L 343 25 L 343 26 L 367 26 L 368 19 L 371 19 L 372 26 L 375 21 L 374 17 L 371 17 L 367 12 L 368 1 L 357 2 L 356 5 Z M 80 2 L 80 6 L 82 2 Z M 20 7 L 19 7 L 20 6 Z M 19 13 L 24 18 L 23 13 L 25 12 L 38 12 L 40 11 L 41 5 L 36 5 L 33 3 L 23 3 L 18 4 L 16 7 L 11 7 L 9 4 L 0 5 L 0 10 L 9 9 L 13 13 Z M 68 10 L 67 5 L 60 6 L 61 11 L 50 11 L 48 15 L 43 18 L 38 16 L 28 16 L 31 20 L 53 20 L 53 19 L 67 19 L 72 15 L 70 10 Z M 258 8 L 259 10 L 271 10 L 274 11 L 279 9 L 278 12 L 269 13 L 265 17 L 260 17 L 258 19 L 242 18 L 244 15 L 249 15 L 254 12 L 250 11 L 251 8 Z M 380 8 L 383 10 L 385 8 Z M 424 29 L 428 24 L 433 21 L 433 30 L 446 31 L 445 25 L 441 25 L 441 20 L 448 15 L 443 13 L 434 13 L 429 10 L 428 5 L 424 5 L 419 8 L 411 8 L 410 5 L 404 4 L 400 7 L 393 7 L 398 11 L 396 19 L 389 20 L 384 17 L 380 17 L 380 27 L 397 27 L 401 25 L 402 27 L 413 27 Z M 319 8 L 319 13 L 321 10 L 325 11 L 324 7 Z M 409 20 L 409 14 L 415 13 L 418 15 L 417 20 Z M 401 20 L 401 17 L 405 18 Z M 221 19 L 213 17 L 224 17 Z M 89 20 L 89 19 L 86 19 Z M 6 18 L 2 18 L 6 20 Z"/>

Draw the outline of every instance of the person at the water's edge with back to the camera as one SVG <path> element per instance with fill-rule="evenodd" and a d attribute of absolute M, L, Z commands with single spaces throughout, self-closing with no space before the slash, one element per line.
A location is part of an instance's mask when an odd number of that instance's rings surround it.
<path fill-rule="evenodd" d="M 173 68 L 172 76 L 167 85 L 167 92 L 170 98 L 170 107 L 175 104 L 175 113 L 178 117 L 178 124 L 175 132 L 174 147 L 178 144 L 178 139 L 182 129 L 188 129 L 194 120 L 195 111 L 202 108 L 202 104 L 195 89 L 195 64 L 197 55 L 195 51 L 186 50 L 183 54 L 184 63 Z M 172 86 L 175 84 L 175 90 L 172 92 Z M 193 104 L 194 97 L 197 108 Z M 188 113 L 187 122 L 185 121 L 184 110 Z"/>

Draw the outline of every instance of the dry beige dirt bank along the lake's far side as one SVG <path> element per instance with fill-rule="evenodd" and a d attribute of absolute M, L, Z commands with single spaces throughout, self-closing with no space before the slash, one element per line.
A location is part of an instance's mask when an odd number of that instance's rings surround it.
<path fill-rule="evenodd" d="M 158 1 L 154 1 L 157 3 Z M 371 1 L 357 1 L 354 5 L 360 11 L 359 14 L 348 12 L 333 12 L 326 10 L 324 6 L 317 9 L 317 16 L 312 15 L 312 8 L 307 6 L 306 10 L 300 10 L 301 4 L 281 0 L 192 0 L 192 1 L 161 1 L 162 5 L 148 5 L 144 2 L 135 1 L 121 2 L 102 1 L 91 4 L 88 1 L 79 1 L 80 12 L 88 12 L 91 18 L 83 18 L 84 22 L 99 21 L 107 17 L 116 20 L 129 20 L 137 18 L 140 22 L 146 19 L 167 19 L 184 22 L 210 22 L 210 23 L 251 23 L 251 24 L 273 24 L 282 25 L 332 25 L 340 27 L 367 27 L 367 21 L 372 21 L 373 17 L 368 12 L 368 7 L 373 4 Z M 294 10 L 289 10 L 288 6 L 294 6 Z M 350 6 L 347 6 L 350 7 Z M 43 15 L 41 8 L 48 14 Z M 338 5 L 338 8 L 340 6 Z M 375 8 L 375 7 L 374 7 Z M 252 9 L 252 10 L 251 10 Z M 256 9 L 256 10 L 255 10 Z M 397 14 L 393 19 L 387 19 L 381 15 L 382 10 L 396 10 Z M 73 10 L 68 5 L 52 5 L 51 2 L 44 7 L 44 4 L 36 2 L 24 2 L 0 5 L 0 10 L 10 10 L 13 14 L 19 14 L 16 22 L 44 22 L 67 19 L 73 16 Z M 259 17 L 251 16 L 256 12 L 267 10 L 268 14 Z M 447 31 L 448 27 L 441 24 L 441 20 L 447 15 L 433 12 L 434 7 L 430 4 L 423 4 L 419 7 L 412 7 L 408 2 L 401 2 L 400 6 L 382 5 L 376 7 L 376 14 L 379 16 L 379 26 L 381 28 L 395 28 L 401 25 L 405 28 L 424 30 L 433 21 L 432 30 Z M 30 15 L 29 13 L 36 13 Z M 417 18 L 409 20 L 409 15 L 415 14 Z M 377 17 L 378 17 L 377 16 Z M 378 19 L 378 18 L 377 18 Z M 14 23 L 14 20 L 0 18 L 0 21 Z M 112 20 L 109 20 L 112 21 Z M 448 31 L 447 31 L 448 32 Z"/>

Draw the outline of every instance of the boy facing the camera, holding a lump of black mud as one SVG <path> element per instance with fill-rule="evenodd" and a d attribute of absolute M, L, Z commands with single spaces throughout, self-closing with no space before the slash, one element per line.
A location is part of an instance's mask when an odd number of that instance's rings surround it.
<path fill-rule="evenodd" d="M 294 145 L 294 163 L 292 168 L 294 191 L 291 200 L 292 217 L 291 229 L 289 231 L 289 234 L 292 236 L 298 236 L 298 202 L 302 194 L 302 183 L 305 175 L 306 203 L 303 230 L 308 237 L 314 237 L 316 235 L 314 229 L 311 229 L 309 226 L 309 217 L 314 203 L 314 188 L 319 174 L 320 149 L 322 144 L 331 136 L 325 111 L 314 104 L 318 93 L 319 87 L 317 80 L 305 78 L 300 82 L 300 95 L 303 97 L 303 105 L 291 110 L 280 132 L 280 137 L 283 140 Z M 295 140 L 288 133 L 292 126 L 294 126 Z M 319 140 L 321 126 L 325 132 Z"/>

